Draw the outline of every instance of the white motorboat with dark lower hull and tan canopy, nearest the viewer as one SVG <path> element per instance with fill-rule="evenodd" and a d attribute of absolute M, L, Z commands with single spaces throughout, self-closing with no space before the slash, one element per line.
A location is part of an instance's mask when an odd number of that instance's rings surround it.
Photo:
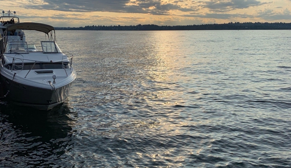
<path fill-rule="evenodd" d="M 40 31 L 46 39 L 41 49 L 27 44 L 25 39 L 10 40 L 15 31 Z M 6 99 L 18 106 L 40 110 L 60 107 L 67 99 L 76 73 L 73 55 L 62 52 L 56 43 L 55 30 L 42 23 L 23 22 L 5 26 L 0 59 L 0 82 Z"/>

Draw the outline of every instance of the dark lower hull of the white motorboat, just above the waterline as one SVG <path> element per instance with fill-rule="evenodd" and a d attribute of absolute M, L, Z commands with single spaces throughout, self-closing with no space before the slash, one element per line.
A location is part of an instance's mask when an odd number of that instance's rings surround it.
<path fill-rule="evenodd" d="M 50 110 L 68 99 L 68 93 L 72 82 L 55 89 L 37 88 L 15 82 L 5 76 L 1 76 L 4 94 L 9 102 L 18 106 L 33 107 L 39 110 Z"/>

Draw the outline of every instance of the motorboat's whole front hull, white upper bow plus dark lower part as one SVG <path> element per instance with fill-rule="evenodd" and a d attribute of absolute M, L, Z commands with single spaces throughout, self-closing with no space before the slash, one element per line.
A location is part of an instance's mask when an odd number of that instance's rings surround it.
<path fill-rule="evenodd" d="M 56 83 L 50 85 L 48 81 L 51 80 L 52 83 L 52 74 L 35 75 L 34 70 L 30 72 L 29 70 L 11 71 L 1 64 L 3 93 L 6 94 L 9 91 L 6 96 L 7 100 L 19 106 L 34 107 L 40 110 L 56 107 L 68 99 L 69 88 L 76 75 L 73 68 L 53 69 L 52 71 L 58 77 L 55 79 Z M 27 73 L 28 75 L 26 75 Z"/>

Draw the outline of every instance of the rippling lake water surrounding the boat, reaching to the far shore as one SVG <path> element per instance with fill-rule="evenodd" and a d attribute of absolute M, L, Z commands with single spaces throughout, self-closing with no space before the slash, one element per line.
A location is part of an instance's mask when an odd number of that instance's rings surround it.
<path fill-rule="evenodd" d="M 57 31 L 75 56 L 69 100 L 50 112 L 2 102 L 0 168 L 291 167 L 290 41 L 291 31 Z"/>

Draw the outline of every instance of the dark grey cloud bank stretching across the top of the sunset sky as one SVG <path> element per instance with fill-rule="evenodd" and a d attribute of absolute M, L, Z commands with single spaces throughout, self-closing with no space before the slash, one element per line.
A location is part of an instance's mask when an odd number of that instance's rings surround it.
<path fill-rule="evenodd" d="M 31 0 L 33 1 L 33 0 Z M 262 2 L 259 0 L 200 0 L 187 1 L 176 0 L 174 3 L 162 4 L 161 0 L 136 0 L 127 5 L 130 0 L 44 0 L 47 4 L 27 5 L 26 8 L 56 10 L 63 12 L 116 12 L 131 14 L 150 14 L 150 15 L 170 15 L 171 10 L 188 12 L 184 17 L 196 18 L 252 18 L 258 17 L 268 21 L 280 18 L 291 18 L 290 14 L 274 14 L 258 12 L 257 15 L 248 14 L 228 14 L 229 11 L 236 9 L 246 9 L 265 5 L 272 2 Z M 182 7 L 179 4 L 187 4 L 188 7 Z M 199 9 L 208 9 L 208 13 L 201 14 Z"/>

